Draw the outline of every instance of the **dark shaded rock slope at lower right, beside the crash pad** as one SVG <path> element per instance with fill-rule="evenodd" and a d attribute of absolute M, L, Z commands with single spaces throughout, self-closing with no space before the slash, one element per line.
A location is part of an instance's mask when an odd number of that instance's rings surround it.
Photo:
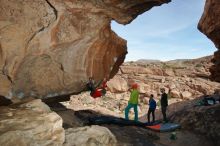
<path fill-rule="evenodd" d="M 220 145 L 220 104 L 213 106 L 195 106 L 195 103 L 179 103 L 171 114 L 171 120 L 181 124 L 197 134 L 210 138 L 214 145 Z M 171 108 L 171 107 L 169 107 Z"/>

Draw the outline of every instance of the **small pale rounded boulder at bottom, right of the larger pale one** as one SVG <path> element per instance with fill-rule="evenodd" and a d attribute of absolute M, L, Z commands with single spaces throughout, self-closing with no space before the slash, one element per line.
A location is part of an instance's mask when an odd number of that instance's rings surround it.
<path fill-rule="evenodd" d="M 64 146 L 115 146 L 117 144 L 111 131 L 101 126 L 69 128 L 65 132 Z"/>

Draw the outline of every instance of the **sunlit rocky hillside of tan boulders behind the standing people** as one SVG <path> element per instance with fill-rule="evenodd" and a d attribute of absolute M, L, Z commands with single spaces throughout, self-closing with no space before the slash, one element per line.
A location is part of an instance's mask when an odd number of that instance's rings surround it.
<path fill-rule="evenodd" d="M 209 80 L 209 68 L 213 56 L 168 62 L 139 60 L 125 62 L 120 71 L 108 82 L 112 93 L 125 93 L 132 83 L 138 83 L 144 97 L 158 97 L 165 88 L 170 98 L 190 100 L 194 97 L 214 94 L 220 89 L 218 82 Z"/>

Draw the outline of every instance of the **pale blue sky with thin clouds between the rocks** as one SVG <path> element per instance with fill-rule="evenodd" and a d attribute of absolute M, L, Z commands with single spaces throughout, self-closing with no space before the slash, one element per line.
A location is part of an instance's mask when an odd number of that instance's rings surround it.
<path fill-rule="evenodd" d="M 197 29 L 204 5 L 205 0 L 172 0 L 125 26 L 112 21 L 112 30 L 127 40 L 125 61 L 194 59 L 213 54 L 217 50 L 214 44 Z"/>

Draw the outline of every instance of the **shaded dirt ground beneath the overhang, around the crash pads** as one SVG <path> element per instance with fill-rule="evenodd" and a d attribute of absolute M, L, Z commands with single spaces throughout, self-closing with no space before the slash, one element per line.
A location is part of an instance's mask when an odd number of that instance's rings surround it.
<path fill-rule="evenodd" d="M 91 119 L 97 117 L 110 119 L 109 122 L 111 122 L 111 119 L 115 119 L 116 121 L 122 120 L 121 118 L 104 115 L 93 110 L 73 111 L 72 109 L 67 109 L 61 103 L 47 104 L 51 110 L 62 117 L 64 129 L 95 125 Z M 144 128 L 142 125 L 135 125 L 133 121 L 126 124 L 108 123 L 101 124 L 101 126 L 108 128 L 115 135 L 119 146 L 214 146 L 213 142 L 204 136 L 184 129 L 176 131 L 176 140 L 170 140 L 171 132 L 153 132 Z M 96 123 L 96 125 L 100 124 Z"/>

